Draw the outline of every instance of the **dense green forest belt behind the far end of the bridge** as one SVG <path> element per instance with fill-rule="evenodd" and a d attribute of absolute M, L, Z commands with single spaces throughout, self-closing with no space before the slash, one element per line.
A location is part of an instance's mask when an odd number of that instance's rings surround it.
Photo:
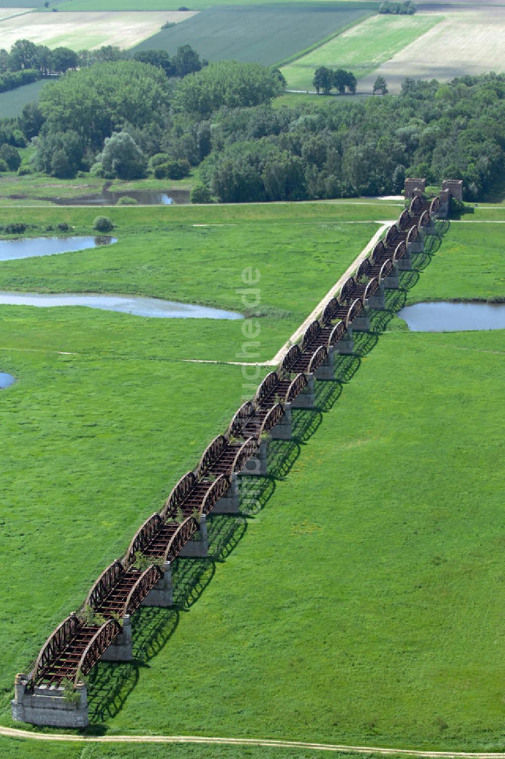
<path fill-rule="evenodd" d="M 289 108 L 272 106 L 279 71 L 222 62 L 175 78 L 145 55 L 46 84 L 38 105 L 2 121 L 0 143 L 33 139 L 33 168 L 58 177 L 178 178 L 200 165 L 195 197 L 227 202 L 387 194 L 406 175 L 463 178 L 477 200 L 500 181 L 505 75 L 406 79 L 399 96 Z"/>

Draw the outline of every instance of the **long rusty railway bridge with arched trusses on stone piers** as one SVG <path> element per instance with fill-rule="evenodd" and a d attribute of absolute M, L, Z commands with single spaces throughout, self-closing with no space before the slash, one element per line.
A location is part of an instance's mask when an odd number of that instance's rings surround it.
<path fill-rule="evenodd" d="M 83 676 L 99 660 L 132 659 L 131 616 L 140 605 L 172 605 L 174 559 L 207 556 L 207 515 L 240 511 L 238 478 L 267 474 L 267 439 L 291 438 L 292 409 L 312 408 L 314 383 L 334 379 L 336 357 L 352 353 L 353 330 L 368 330 L 370 311 L 385 307 L 385 289 L 399 286 L 399 272 L 412 267 L 412 255 L 422 252 L 425 235 L 434 233 L 434 220 L 447 216 L 455 187 L 449 183 L 433 200 L 420 194 L 424 184 L 414 191 L 409 209 L 308 326 L 300 344 L 289 348 L 254 398 L 238 408 L 163 508 L 99 575 L 80 608 L 49 635 L 27 674 L 16 676 L 14 720 L 87 726 Z"/>

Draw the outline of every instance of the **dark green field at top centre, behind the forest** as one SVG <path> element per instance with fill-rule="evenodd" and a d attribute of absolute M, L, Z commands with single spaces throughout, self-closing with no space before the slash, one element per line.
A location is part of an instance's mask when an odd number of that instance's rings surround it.
<path fill-rule="evenodd" d="M 270 65 L 305 50 L 368 14 L 365 4 L 311 2 L 295 5 L 216 6 L 181 27 L 163 29 L 135 50 L 175 53 L 188 43 L 209 61 L 256 61 Z M 282 33 L 279 33 L 282 30 Z"/>

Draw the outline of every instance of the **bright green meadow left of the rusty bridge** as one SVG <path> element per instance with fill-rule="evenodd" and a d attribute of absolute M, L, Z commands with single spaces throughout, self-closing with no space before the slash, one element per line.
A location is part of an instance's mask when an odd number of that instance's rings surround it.
<path fill-rule="evenodd" d="M 241 272 L 257 266 L 266 360 L 374 233 L 374 224 L 335 223 L 363 209 L 112 209 L 117 244 L 2 262 L 0 288 L 152 294 L 241 310 Z M 11 213 L 4 209 L 2 222 Z M 66 220 L 89 233 L 94 213 L 17 209 L 15 218 Z M 224 225 L 194 227 L 204 219 Z M 244 342 L 240 322 L 4 306 L 0 325 L 0 366 L 17 378 L 0 393 L 2 567 L 10 578 L 0 603 L 0 685 L 7 707 L 14 672 L 226 429 L 245 380 L 240 367 L 181 361 L 235 361 Z"/>

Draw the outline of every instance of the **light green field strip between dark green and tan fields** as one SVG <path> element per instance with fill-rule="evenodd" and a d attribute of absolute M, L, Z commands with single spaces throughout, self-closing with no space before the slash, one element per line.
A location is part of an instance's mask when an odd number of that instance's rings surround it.
<path fill-rule="evenodd" d="M 297 58 L 281 71 L 291 90 L 312 90 L 312 77 L 318 66 L 345 68 L 361 79 L 439 21 L 435 14 L 375 15 Z"/>

